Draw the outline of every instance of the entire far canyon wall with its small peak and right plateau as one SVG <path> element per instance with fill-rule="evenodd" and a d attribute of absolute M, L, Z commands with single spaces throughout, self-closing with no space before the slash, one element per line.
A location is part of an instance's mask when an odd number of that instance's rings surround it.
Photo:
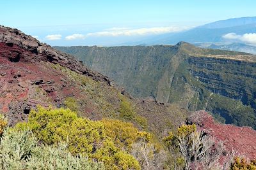
<path fill-rule="evenodd" d="M 249 53 L 175 46 L 55 47 L 113 78 L 136 97 L 207 110 L 221 122 L 255 123 L 256 57 Z"/>

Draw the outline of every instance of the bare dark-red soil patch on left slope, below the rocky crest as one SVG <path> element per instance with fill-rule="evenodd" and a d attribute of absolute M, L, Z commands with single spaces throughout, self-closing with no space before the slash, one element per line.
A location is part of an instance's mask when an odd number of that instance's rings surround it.
<path fill-rule="evenodd" d="M 0 43 L 0 111 L 8 113 L 10 124 L 26 120 L 31 108 L 38 104 L 58 106 L 65 97 L 79 97 L 79 89 L 65 81 L 65 74 L 52 69 L 51 64 L 27 62 L 24 57 L 13 60 L 18 53 L 31 57 L 35 54 L 17 46 L 10 53 L 9 48 Z"/>

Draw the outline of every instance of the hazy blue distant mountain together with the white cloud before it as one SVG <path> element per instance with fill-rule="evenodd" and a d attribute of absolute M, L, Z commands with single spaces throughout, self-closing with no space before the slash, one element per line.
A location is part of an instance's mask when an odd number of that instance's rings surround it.
<path fill-rule="evenodd" d="M 255 33 L 256 17 L 232 18 L 188 31 L 152 36 L 126 45 L 175 45 L 179 41 L 186 41 L 202 48 L 256 53 Z"/>

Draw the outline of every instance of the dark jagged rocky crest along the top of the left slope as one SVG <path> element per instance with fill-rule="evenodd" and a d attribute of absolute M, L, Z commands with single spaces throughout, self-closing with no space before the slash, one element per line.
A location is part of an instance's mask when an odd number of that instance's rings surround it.
<path fill-rule="evenodd" d="M 107 81 L 111 84 L 111 80 L 108 77 L 84 67 L 72 55 L 55 50 L 45 43 L 40 43 L 32 36 L 28 36 L 18 29 L 0 25 L 0 48 L 0 55 L 11 62 L 48 61 L 68 67 L 77 73 L 91 76 L 93 80 Z"/>

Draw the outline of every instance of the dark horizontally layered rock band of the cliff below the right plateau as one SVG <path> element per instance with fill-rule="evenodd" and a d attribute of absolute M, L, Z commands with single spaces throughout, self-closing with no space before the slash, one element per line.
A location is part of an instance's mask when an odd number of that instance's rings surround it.
<path fill-rule="evenodd" d="M 189 57 L 188 63 L 191 75 L 202 81 L 206 89 L 255 108 L 255 62 Z"/>

